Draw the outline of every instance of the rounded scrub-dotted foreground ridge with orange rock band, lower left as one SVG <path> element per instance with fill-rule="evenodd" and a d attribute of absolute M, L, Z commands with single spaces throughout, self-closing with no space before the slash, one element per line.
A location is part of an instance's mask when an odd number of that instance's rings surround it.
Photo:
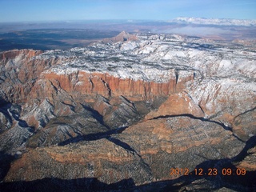
<path fill-rule="evenodd" d="M 107 184 L 134 178 L 142 184 L 150 181 L 151 174 L 138 154 L 101 139 L 29 151 L 11 165 L 5 182 L 24 181 L 24 178 L 25 181 L 42 178 L 98 178 Z M 90 183 L 87 184 L 90 186 Z"/>

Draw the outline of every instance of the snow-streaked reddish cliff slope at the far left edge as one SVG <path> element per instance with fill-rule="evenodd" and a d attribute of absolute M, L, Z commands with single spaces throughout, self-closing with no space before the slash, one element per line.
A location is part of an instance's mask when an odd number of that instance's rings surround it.
<path fill-rule="evenodd" d="M 14 103 L 26 102 L 38 75 L 58 63 L 55 59 L 31 59 L 40 50 L 13 50 L 0 54 L 1 98 Z"/>

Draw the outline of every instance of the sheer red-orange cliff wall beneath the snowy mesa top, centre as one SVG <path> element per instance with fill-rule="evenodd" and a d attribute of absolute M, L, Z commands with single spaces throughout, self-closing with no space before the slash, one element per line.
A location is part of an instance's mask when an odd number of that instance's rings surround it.
<path fill-rule="evenodd" d="M 52 91 L 47 85 L 47 82 L 50 82 L 50 86 L 54 86 L 57 90 L 64 90 L 73 98 L 80 98 L 86 102 L 94 102 L 98 94 L 105 98 L 122 95 L 134 102 L 150 101 L 154 100 L 155 97 L 166 97 L 182 90 L 187 81 L 193 81 L 193 74 L 176 84 L 175 78 L 170 78 L 168 82 L 146 82 L 140 79 L 122 79 L 111 74 L 84 71 L 77 71 L 72 74 L 50 73 L 41 74 L 38 83 L 34 85 L 31 97 L 38 98 L 39 95 L 42 95 L 42 98 L 50 97 Z"/>

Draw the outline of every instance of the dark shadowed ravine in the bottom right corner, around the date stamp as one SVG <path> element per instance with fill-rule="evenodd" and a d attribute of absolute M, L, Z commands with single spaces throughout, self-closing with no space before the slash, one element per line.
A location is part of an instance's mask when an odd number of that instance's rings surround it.
<path fill-rule="evenodd" d="M 187 191 L 186 187 L 190 186 L 190 190 L 192 191 L 198 191 L 199 189 L 199 191 L 219 190 L 223 187 L 235 191 L 256 191 L 256 170 L 246 170 L 246 174 L 242 175 L 238 168 L 234 166 L 235 162 L 242 161 L 242 159 L 246 158 L 248 154 L 247 151 L 254 146 L 256 146 L 256 136 L 250 138 L 246 142 L 246 146 L 234 158 L 206 160 L 196 166 L 188 175 L 181 175 L 181 177 L 169 181 L 152 182 L 150 184 L 138 186 L 136 189 L 139 191 L 146 191 L 151 188 L 154 189 L 154 191 L 162 192 Z M 202 169 L 202 173 L 200 174 L 199 172 L 201 171 L 199 171 L 199 169 Z M 210 170 L 214 169 L 217 169 L 217 172 L 210 172 Z M 226 169 L 232 170 L 230 175 L 225 172 Z M 204 184 L 199 180 L 204 180 Z M 199 184 L 194 184 L 194 182 L 197 181 Z M 201 185 L 199 189 L 198 185 Z"/>

